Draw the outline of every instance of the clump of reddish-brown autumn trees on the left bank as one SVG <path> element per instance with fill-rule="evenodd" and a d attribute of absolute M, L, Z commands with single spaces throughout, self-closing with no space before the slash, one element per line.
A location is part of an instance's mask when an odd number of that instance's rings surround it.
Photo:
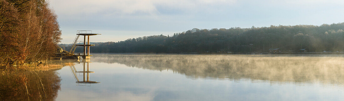
<path fill-rule="evenodd" d="M 57 15 L 45 0 L 0 0 L 0 67 L 53 55 L 61 38 Z"/>

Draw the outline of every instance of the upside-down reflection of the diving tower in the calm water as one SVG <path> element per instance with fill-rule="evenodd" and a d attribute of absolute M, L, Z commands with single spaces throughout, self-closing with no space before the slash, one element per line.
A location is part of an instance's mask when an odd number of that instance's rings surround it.
<path fill-rule="evenodd" d="M 90 59 L 87 59 L 87 60 L 90 60 Z M 97 82 L 97 81 L 90 81 L 89 80 L 89 76 L 90 76 L 90 73 L 94 73 L 92 71 L 89 71 L 89 61 L 83 61 L 83 62 L 77 62 L 77 64 L 80 64 L 82 63 L 83 64 L 83 67 L 84 67 L 84 70 L 83 71 L 77 71 L 76 68 L 75 68 L 75 64 L 72 64 L 69 66 L 72 74 L 74 75 L 74 79 L 75 79 L 75 83 L 77 84 L 77 86 L 86 86 L 86 84 L 97 84 L 97 83 L 100 83 L 100 82 Z M 86 69 L 87 67 L 87 69 Z M 83 74 L 83 80 L 80 81 L 78 79 L 78 76 L 77 74 L 78 73 L 82 73 Z M 85 85 L 80 85 L 80 84 L 85 84 Z"/>

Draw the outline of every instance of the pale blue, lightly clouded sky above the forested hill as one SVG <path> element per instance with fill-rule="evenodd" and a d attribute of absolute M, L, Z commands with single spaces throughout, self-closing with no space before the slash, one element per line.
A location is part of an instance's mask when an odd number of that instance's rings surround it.
<path fill-rule="evenodd" d="M 123 41 L 212 28 L 322 25 L 344 22 L 344 0 L 50 0 L 72 43 L 76 30 L 90 42 Z"/>

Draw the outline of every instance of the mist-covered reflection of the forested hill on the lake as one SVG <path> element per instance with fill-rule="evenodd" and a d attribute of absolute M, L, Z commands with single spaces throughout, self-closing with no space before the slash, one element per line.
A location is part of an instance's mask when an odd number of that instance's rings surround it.
<path fill-rule="evenodd" d="M 94 62 L 119 63 L 149 70 L 168 70 L 191 79 L 245 79 L 271 84 L 342 86 L 342 55 L 95 55 Z M 328 85 L 331 86 L 331 85 Z"/>

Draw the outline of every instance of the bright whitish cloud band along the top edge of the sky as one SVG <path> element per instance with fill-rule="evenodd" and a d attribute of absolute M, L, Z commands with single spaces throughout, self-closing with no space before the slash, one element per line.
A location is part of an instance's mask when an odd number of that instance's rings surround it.
<path fill-rule="evenodd" d="M 157 7 L 194 10 L 207 5 L 229 5 L 236 0 L 50 0 L 60 14 L 155 14 Z"/>

